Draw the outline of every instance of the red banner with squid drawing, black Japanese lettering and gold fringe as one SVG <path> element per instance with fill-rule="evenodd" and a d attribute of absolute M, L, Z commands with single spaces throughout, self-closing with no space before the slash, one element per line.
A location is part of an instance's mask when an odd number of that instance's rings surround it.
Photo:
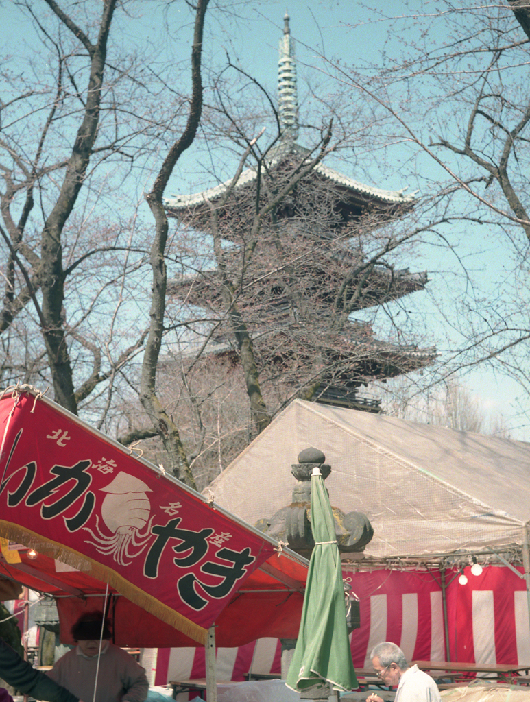
<path fill-rule="evenodd" d="M 0 401 L 0 531 L 204 642 L 274 544 L 45 399 Z"/>

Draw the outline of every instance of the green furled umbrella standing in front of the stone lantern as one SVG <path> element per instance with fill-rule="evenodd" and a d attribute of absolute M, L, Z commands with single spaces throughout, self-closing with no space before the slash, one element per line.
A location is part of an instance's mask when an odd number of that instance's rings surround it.
<path fill-rule="evenodd" d="M 311 475 L 314 549 L 300 631 L 286 685 L 298 692 L 331 683 L 334 690 L 358 687 L 346 628 L 343 574 L 328 492 L 319 468 Z"/>

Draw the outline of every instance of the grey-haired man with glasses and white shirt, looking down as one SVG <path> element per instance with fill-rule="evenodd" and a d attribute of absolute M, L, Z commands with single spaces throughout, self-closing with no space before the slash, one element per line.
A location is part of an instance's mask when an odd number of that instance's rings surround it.
<path fill-rule="evenodd" d="M 432 677 L 417 665 L 409 667 L 402 649 L 390 641 L 384 641 L 371 652 L 373 670 L 387 686 L 396 687 L 395 702 L 442 702 L 439 690 Z M 366 702 L 384 702 L 375 693 Z"/>

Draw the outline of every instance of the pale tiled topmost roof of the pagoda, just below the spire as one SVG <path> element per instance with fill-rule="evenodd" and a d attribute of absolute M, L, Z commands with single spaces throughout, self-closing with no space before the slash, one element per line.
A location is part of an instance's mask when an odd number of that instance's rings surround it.
<path fill-rule="evenodd" d="M 271 150 L 266 157 L 267 168 L 274 169 L 284 164 L 289 159 L 310 159 L 311 151 L 298 143 L 294 143 L 289 138 L 282 140 L 277 147 Z M 365 185 L 354 178 L 345 176 L 339 171 L 324 165 L 317 164 L 312 171 L 321 179 L 336 185 L 343 191 L 345 199 L 355 201 L 360 206 L 392 208 L 394 206 L 406 206 L 410 208 L 416 202 L 413 194 L 405 194 L 403 190 L 383 190 L 383 188 L 373 185 Z M 258 178 L 258 167 L 251 166 L 239 176 L 239 180 L 234 187 L 234 193 L 251 187 Z M 227 189 L 232 185 L 232 178 L 224 183 L 190 194 L 177 194 L 164 199 L 164 206 L 168 210 L 169 216 L 178 217 L 180 212 L 205 206 L 206 201 L 215 203 L 223 197 Z"/>

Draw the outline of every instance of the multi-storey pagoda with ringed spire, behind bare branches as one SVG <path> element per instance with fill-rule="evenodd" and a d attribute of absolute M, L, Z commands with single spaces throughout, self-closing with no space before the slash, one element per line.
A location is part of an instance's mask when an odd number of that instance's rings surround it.
<path fill-rule="evenodd" d="M 314 150 L 298 143 L 289 15 L 280 40 L 278 119 L 277 143 L 263 153 L 254 147 L 256 165 L 208 190 L 168 197 L 167 214 L 197 232 L 210 234 L 215 227 L 223 240 L 223 267 L 239 280 L 237 305 L 260 378 L 286 383 L 291 396 L 378 412 L 380 401 L 359 396 L 360 386 L 421 369 L 436 355 L 432 347 L 378 340 L 369 322 L 355 319 L 356 312 L 428 283 L 425 272 L 395 270 L 372 254 L 383 245 L 378 232 L 401 222 L 414 197 L 364 185 L 319 161 L 271 208 L 256 241 L 246 239 L 267 198 L 314 159 Z M 246 257 L 250 246 L 256 251 Z M 211 267 L 169 282 L 168 293 L 223 319 L 221 287 L 218 267 Z M 221 323 L 206 346 L 209 357 L 237 362 L 231 337 Z"/>

